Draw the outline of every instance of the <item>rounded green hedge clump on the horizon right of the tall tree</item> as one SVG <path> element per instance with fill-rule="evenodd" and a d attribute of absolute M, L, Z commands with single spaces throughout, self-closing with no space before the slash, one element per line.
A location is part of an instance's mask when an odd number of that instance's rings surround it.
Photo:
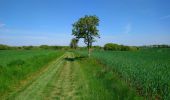
<path fill-rule="evenodd" d="M 114 43 L 107 43 L 104 45 L 104 50 L 111 50 L 111 51 L 136 51 L 138 47 L 135 46 L 124 46 L 118 45 Z"/>

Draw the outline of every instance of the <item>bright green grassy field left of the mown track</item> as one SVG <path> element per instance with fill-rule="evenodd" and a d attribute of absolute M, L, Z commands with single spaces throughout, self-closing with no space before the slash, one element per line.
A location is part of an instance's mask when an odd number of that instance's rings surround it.
<path fill-rule="evenodd" d="M 0 97 L 13 91 L 21 80 L 62 54 L 63 51 L 54 50 L 1 50 Z"/>

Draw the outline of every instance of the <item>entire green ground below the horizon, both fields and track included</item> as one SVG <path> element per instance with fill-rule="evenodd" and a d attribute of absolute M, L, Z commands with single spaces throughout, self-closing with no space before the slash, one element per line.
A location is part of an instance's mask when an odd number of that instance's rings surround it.
<path fill-rule="evenodd" d="M 3 100 L 170 98 L 170 49 L 1 50 Z"/>

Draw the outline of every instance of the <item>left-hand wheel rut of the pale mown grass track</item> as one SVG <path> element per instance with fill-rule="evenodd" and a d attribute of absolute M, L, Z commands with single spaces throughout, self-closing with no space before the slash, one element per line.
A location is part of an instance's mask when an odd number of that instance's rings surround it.
<path fill-rule="evenodd" d="M 29 86 L 27 86 L 24 90 L 17 93 L 15 96 L 10 96 L 8 99 L 11 100 L 40 100 L 42 98 L 43 89 L 48 84 L 49 80 L 58 70 L 58 68 L 63 63 L 63 58 L 66 56 L 64 54 L 56 61 L 52 62 L 48 69 L 46 69 L 40 76 L 37 77 Z M 14 93 L 16 94 L 16 93 Z"/>

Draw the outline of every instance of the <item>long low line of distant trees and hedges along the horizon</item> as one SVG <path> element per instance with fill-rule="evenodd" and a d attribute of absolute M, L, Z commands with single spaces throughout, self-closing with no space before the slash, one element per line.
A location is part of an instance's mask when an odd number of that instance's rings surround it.
<path fill-rule="evenodd" d="M 72 46 L 71 46 L 72 45 Z M 0 50 L 34 50 L 34 49 L 43 49 L 43 50 L 70 50 L 70 48 L 77 48 L 77 50 L 87 50 L 86 47 L 78 47 L 77 42 L 73 40 L 73 44 L 70 46 L 49 46 L 49 45 L 40 45 L 40 46 L 8 46 L 0 44 Z M 136 51 L 141 48 L 170 48 L 170 45 L 148 45 L 148 46 L 125 46 L 114 43 L 106 43 L 104 47 L 101 46 L 92 46 L 93 50 L 110 50 L 110 51 Z"/>

